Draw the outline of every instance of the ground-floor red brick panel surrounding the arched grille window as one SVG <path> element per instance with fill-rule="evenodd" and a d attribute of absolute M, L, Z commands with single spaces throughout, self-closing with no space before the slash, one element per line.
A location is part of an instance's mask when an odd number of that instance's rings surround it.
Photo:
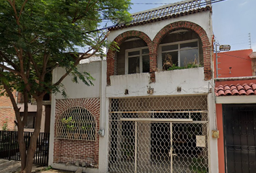
<path fill-rule="evenodd" d="M 96 132 L 99 130 L 100 123 L 100 99 L 57 99 L 56 100 L 56 123 L 59 116 L 70 107 L 85 107 L 96 120 Z M 56 131 L 56 129 L 55 129 Z M 56 136 L 56 133 L 54 134 Z M 85 161 L 88 164 L 95 164 L 98 167 L 98 151 L 99 151 L 99 136 L 96 134 L 95 141 L 79 141 L 79 140 L 54 140 L 54 163 L 72 163 L 75 161 Z"/>

